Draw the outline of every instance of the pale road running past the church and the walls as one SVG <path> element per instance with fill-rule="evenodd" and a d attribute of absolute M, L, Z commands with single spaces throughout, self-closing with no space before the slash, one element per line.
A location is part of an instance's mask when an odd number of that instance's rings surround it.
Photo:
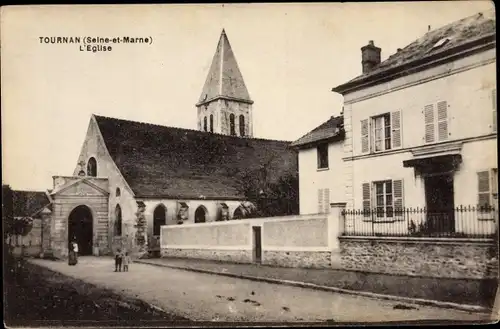
<path fill-rule="evenodd" d="M 167 312 L 203 321 L 374 322 L 488 320 L 489 315 L 291 287 L 134 263 L 114 272 L 113 259 L 81 257 L 77 266 L 33 259 L 53 271 L 140 298 Z"/>

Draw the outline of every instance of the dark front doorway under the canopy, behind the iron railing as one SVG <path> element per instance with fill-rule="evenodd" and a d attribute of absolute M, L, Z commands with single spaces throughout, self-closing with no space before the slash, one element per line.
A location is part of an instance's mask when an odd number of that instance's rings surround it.
<path fill-rule="evenodd" d="M 429 233 L 451 234 L 455 232 L 452 174 L 425 177 L 425 202 Z"/>

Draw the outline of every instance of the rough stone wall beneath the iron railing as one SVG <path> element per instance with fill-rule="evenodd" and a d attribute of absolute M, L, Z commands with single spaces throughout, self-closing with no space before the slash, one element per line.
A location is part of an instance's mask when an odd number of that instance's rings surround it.
<path fill-rule="evenodd" d="M 492 241 L 429 238 L 341 237 L 345 270 L 436 278 L 498 277 Z"/>

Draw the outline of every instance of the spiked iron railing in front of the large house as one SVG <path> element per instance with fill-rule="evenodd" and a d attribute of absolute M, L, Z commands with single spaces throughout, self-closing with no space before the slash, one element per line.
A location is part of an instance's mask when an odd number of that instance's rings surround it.
<path fill-rule="evenodd" d="M 345 236 L 497 238 L 498 209 L 375 208 L 343 210 Z"/>

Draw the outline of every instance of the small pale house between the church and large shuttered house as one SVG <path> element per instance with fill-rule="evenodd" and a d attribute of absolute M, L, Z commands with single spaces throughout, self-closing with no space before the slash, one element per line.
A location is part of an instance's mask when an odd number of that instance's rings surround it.
<path fill-rule="evenodd" d="M 299 157 L 300 214 L 328 213 L 344 201 L 343 117 L 332 116 L 291 145 Z"/>

